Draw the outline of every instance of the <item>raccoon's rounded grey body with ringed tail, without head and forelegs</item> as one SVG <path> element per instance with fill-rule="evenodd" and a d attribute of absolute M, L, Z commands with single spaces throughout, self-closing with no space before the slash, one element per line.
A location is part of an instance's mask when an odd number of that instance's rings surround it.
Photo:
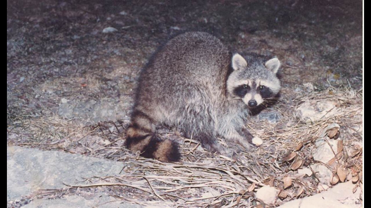
<path fill-rule="evenodd" d="M 178 161 L 177 143 L 158 137 L 158 124 L 177 126 L 211 146 L 227 99 L 230 58 L 208 33 L 184 33 L 165 44 L 141 71 L 126 146 L 144 157 Z"/>

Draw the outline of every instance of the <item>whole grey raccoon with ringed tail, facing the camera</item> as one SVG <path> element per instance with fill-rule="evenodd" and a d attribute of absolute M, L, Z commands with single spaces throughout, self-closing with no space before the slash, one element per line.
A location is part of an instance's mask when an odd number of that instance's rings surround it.
<path fill-rule="evenodd" d="M 125 145 L 146 158 L 179 161 L 177 142 L 160 138 L 158 125 L 178 127 L 211 152 L 225 152 L 217 138 L 249 148 L 249 111 L 279 93 L 277 58 L 232 54 L 209 33 L 174 37 L 140 74 Z"/>

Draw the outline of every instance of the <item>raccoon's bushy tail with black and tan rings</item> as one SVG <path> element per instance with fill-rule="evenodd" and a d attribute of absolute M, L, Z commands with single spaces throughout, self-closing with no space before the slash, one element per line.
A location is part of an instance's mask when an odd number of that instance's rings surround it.
<path fill-rule="evenodd" d="M 155 135 L 156 123 L 148 114 L 134 110 L 131 124 L 126 132 L 125 146 L 140 152 L 142 157 L 155 158 L 162 162 L 179 161 L 178 144 L 169 139 L 161 139 Z"/>

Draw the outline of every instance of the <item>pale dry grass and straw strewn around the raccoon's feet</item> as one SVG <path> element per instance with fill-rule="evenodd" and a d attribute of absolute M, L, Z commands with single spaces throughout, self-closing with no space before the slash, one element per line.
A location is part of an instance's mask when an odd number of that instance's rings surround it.
<path fill-rule="evenodd" d="M 319 100 L 334 101 L 341 111 L 315 123 L 303 123 L 295 117 L 295 108 L 300 103 Z M 254 117 L 248 124 L 252 133 L 264 140 L 259 148 L 244 151 L 238 145 L 220 141 L 235 152 L 232 158 L 212 155 L 201 148 L 199 142 L 166 130 L 160 134 L 180 141 L 181 162 L 162 163 L 141 158 L 122 147 L 125 139 L 122 132 L 128 120 L 83 126 L 59 117 L 27 119 L 21 122 L 22 125 L 8 127 L 7 133 L 9 137 L 26 132 L 22 135 L 29 138 L 24 140 L 28 142 L 8 141 L 8 145 L 60 149 L 121 161 L 123 168 L 116 176 L 90 178 L 83 184 L 69 184 L 68 188 L 58 191 L 99 187 L 120 200 L 151 207 L 251 207 L 261 203 L 253 193 L 263 185 L 288 193 L 287 198 L 277 198 L 275 205 L 316 194 L 319 191 L 316 175 L 305 177 L 296 174 L 290 170 L 292 162 L 285 161 L 284 157 L 293 151 L 303 160 L 302 167 L 315 163 L 312 159 L 313 143 L 323 129 L 334 122 L 341 126 L 344 148 L 351 155 L 346 159 L 340 158 L 338 162 L 347 167 L 348 172 L 361 171 L 359 152 L 352 155 L 352 152 L 362 151 L 357 145 L 362 142 L 361 131 L 357 129 L 362 125 L 361 93 L 327 90 L 297 97 L 289 104 L 279 103 L 274 108 L 282 114 L 278 123 L 258 121 L 258 117 Z M 292 185 L 286 189 L 282 181 L 285 176 L 293 179 Z M 304 191 L 298 194 L 300 189 Z M 40 196 L 46 195 L 50 192 L 43 192 Z"/>

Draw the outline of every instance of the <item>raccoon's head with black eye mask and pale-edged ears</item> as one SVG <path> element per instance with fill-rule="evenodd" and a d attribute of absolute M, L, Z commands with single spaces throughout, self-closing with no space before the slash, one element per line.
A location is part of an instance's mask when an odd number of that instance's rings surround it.
<path fill-rule="evenodd" d="M 232 98 L 241 98 L 250 108 L 275 97 L 281 88 L 276 76 L 279 66 L 278 58 L 264 62 L 257 56 L 247 56 L 245 59 L 240 54 L 234 54 L 233 72 L 227 79 L 229 95 Z"/>

